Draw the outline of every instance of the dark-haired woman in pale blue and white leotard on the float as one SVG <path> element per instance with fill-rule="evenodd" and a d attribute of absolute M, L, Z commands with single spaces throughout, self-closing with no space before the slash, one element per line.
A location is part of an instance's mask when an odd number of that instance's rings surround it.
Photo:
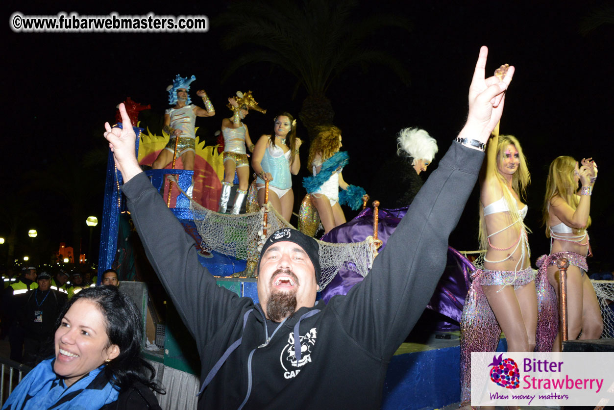
<path fill-rule="evenodd" d="M 265 181 L 269 181 L 269 202 L 290 221 L 294 205 L 290 174 L 297 175 L 300 170 L 298 148 L 302 141 L 297 138 L 297 122 L 289 112 L 275 117 L 274 124 L 271 135 L 260 137 L 252 157 L 252 168 L 258 175 L 258 205 L 262 207 L 265 202 Z"/>

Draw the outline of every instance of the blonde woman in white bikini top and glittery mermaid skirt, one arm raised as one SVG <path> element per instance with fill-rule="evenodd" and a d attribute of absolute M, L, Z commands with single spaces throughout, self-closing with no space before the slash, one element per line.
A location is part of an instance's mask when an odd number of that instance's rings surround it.
<path fill-rule="evenodd" d="M 484 269 L 472 272 L 461 317 L 463 404 L 470 390 L 471 352 L 494 352 L 501 331 L 508 352 L 532 352 L 537 328 L 535 270 L 524 224 L 527 161 L 518 139 L 494 134 L 480 176 L 480 248 Z M 526 202 L 526 200 L 525 200 Z"/>

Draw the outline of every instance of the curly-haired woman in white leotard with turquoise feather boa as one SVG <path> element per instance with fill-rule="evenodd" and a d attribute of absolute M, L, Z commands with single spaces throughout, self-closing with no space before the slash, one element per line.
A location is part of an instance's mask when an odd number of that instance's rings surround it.
<path fill-rule="evenodd" d="M 309 159 L 307 161 L 309 171 L 314 176 L 322 170 L 327 161 L 336 162 L 341 144 L 341 130 L 334 125 L 321 127 L 317 133 L 316 139 L 309 147 Z M 341 154 L 341 153 L 340 153 Z M 335 167 L 330 173 L 330 177 L 321 186 L 311 194 L 311 200 L 317 209 L 320 216 L 324 233 L 346 222 L 345 215 L 339 204 L 339 188 L 348 189 L 348 184 L 343 180 L 341 170 L 347 160 L 340 162 L 338 167 Z M 330 162 L 328 163 L 330 164 Z"/>

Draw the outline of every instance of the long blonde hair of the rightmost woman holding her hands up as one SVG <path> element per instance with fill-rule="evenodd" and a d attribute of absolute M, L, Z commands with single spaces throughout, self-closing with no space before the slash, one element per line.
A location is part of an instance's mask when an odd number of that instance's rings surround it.
<path fill-rule="evenodd" d="M 580 199 L 576 195 L 578 183 L 573 179 L 573 171 L 577 160 L 569 156 L 560 156 L 550 163 L 548 170 L 548 179 L 546 179 L 546 195 L 543 199 L 542 208 L 542 224 L 546 227 L 546 238 L 550 238 L 550 227 L 548 220 L 550 219 L 550 201 L 554 197 L 561 197 L 567 205 L 574 210 L 578 208 Z M 591 217 L 588 217 L 586 227 L 591 224 Z M 573 232 L 581 231 L 581 229 L 573 229 Z"/>

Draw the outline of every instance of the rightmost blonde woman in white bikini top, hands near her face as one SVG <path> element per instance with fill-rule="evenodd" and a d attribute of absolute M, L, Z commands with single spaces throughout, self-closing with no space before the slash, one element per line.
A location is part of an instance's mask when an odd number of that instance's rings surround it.
<path fill-rule="evenodd" d="M 550 238 L 550 255 L 538 261 L 540 272 L 547 270 L 548 282 L 553 286 L 556 300 L 559 298 L 559 271 L 556 259 L 569 260 L 567 269 L 567 337 L 575 340 L 599 339 L 604 322 L 599 302 L 591 281 L 586 275 L 586 256 L 590 244 L 586 228 L 591 224 L 591 194 L 597 179 L 597 165 L 582 159 L 580 166 L 572 157 L 562 156 L 550 164 L 543 206 L 546 237 Z M 578 189 L 578 182 L 581 183 Z M 541 314 L 541 313 L 540 313 Z M 558 322 L 558 314 L 550 315 Z M 561 351 L 560 332 L 554 341 L 553 351 Z"/>

